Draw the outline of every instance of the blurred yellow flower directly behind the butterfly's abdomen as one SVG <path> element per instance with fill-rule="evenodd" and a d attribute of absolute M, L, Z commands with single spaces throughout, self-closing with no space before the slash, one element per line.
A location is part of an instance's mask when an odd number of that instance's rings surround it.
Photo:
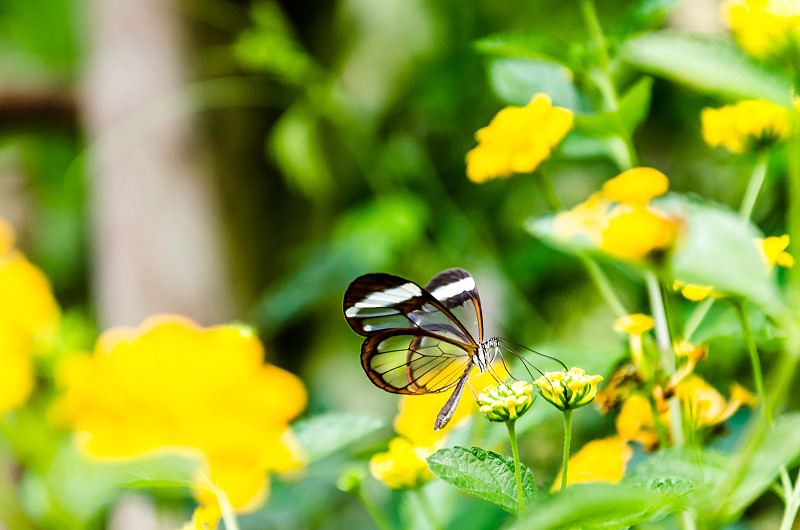
<path fill-rule="evenodd" d="M 508 375 L 502 363 L 492 366 L 492 371 L 500 379 Z M 489 372 L 478 374 L 477 368 L 473 370 L 469 379 L 469 385 L 475 392 L 480 392 L 483 388 L 496 383 L 492 374 Z M 462 420 L 468 418 L 478 409 L 475 400 L 472 399 L 471 392 L 468 390 L 465 390 L 465 392 L 468 395 L 461 397 L 453 417 L 447 425 L 438 431 L 433 430 L 434 420 L 450 398 L 449 392 L 402 396 L 400 399 L 400 411 L 394 420 L 395 432 L 418 447 L 439 447 L 444 443 L 444 437 L 451 429 L 458 426 Z"/>

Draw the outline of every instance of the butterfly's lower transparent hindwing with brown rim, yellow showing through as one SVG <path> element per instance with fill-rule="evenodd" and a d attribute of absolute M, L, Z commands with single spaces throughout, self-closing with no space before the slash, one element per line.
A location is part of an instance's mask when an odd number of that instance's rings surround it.
<path fill-rule="evenodd" d="M 361 364 L 373 383 L 395 394 L 444 392 L 472 364 L 467 344 L 422 330 L 390 329 L 370 335 Z"/>

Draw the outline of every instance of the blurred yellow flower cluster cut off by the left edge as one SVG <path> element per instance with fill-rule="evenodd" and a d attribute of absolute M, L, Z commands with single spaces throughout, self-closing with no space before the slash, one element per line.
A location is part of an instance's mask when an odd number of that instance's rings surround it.
<path fill-rule="evenodd" d="M 34 388 L 32 355 L 52 342 L 60 320 L 47 278 L 14 249 L 14 230 L 0 219 L 0 414 Z"/>

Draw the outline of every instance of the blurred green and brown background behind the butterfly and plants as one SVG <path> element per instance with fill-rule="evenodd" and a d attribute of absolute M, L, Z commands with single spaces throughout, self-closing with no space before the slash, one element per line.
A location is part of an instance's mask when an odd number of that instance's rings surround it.
<path fill-rule="evenodd" d="M 662 3 L 671 12 L 649 27 L 724 31 L 714 1 Z M 612 37 L 636 31 L 634 4 L 600 3 Z M 548 211 L 536 182 L 476 185 L 464 165 L 474 132 L 537 82 L 498 82 L 491 74 L 509 59 L 475 41 L 532 29 L 569 46 L 585 40 L 575 10 L 562 0 L 2 0 L 0 216 L 67 319 L 94 333 L 164 312 L 251 324 L 267 360 L 304 380 L 310 413 L 388 421 L 396 411 L 364 376 L 342 316 L 345 289 L 367 272 L 424 284 L 466 268 L 488 334 L 607 375 L 622 353 L 613 315 L 579 261 L 522 228 Z M 673 189 L 736 204 L 748 168 L 703 144 L 699 112 L 711 103 L 656 79 L 634 141 Z M 618 173 L 576 142 L 546 168 L 566 206 Z M 754 218 L 769 232 L 781 194 L 763 197 Z M 637 280 L 612 273 L 629 307 L 645 308 Z M 579 439 L 611 428 L 590 415 Z M 543 427 L 552 444 L 523 441 L 534 470 L 557 461 L 558 421 Z M 316 509 L 282 508 L 293 487 L 277 485 L 271 515 L 243 526 L 363 523 L 331 481 L 309 497 L 324 499 Z M 325 510 L 341 516 L 325 523 Z"/>

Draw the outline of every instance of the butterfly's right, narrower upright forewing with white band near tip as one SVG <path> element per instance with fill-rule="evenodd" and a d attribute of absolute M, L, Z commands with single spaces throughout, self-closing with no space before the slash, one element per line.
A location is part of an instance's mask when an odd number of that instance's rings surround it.
<path fill-rule="evenodd" d="M 472 337 L 483 340 L 481 298 L 475 279 L 464 269 L 442 271 L 425 286 L 461 322 Z"/>

